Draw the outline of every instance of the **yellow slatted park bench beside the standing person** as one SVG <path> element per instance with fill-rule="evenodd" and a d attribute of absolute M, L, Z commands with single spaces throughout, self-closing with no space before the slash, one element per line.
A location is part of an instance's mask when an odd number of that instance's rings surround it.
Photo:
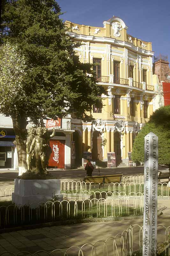
<path fill-rule="evenodd" d="M 104 183 L 120 183 L 122 180 L 123 174 L 112 174 L 112 175 L 102 175 L 102 176 L 87 176 L 84 177 L 84 182 L 93 182 L 95 184 L 104 184 Z M 99 185 L 99 187 L 100 187 Z"/>

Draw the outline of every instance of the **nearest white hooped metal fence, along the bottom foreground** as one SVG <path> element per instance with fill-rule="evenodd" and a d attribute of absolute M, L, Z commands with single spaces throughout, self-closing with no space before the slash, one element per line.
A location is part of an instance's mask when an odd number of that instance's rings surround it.
<path fill-rule="evenodd" d="M 162 245 L 161 251 L 164 255 L 170 256 L 169 243 L 170 226 L 158 226 L 158 250 Z M 131 256 L 135 251 L 142 251 L 143 227 L 134 224 L 116 236 L 109 237 L 105 241 L 97 241 L 96 243 L 87 243 L 82 246 L 71 246 L 65 249 L 56 249 L 52 252 L 38 251 L 29 255 L 34 256 Z M 17 255 L 21 255 L 22 252 Z M 11 252 L 3 252 L 0 255 L 13 256 Z M 26 252 L 23 252 L 26 255 Z"/>

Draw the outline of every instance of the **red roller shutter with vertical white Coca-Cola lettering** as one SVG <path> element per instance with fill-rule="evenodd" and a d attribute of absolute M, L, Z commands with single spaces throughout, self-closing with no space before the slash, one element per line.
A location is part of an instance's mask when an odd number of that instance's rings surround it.
<path fill-rule="evenodd" d="M 49 145 L 52 149 L 52 153 L 48 166 L 55 166 L 58 169 L 64 169 L 65 140 L 50 140 Z"/>

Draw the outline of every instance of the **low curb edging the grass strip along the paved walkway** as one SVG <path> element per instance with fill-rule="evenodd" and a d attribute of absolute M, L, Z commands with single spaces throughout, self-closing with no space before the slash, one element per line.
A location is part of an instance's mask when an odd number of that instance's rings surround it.
<path fill-rule="evenodd" d="M 162 214 L 163 212 L 158 212 L 158 217 Z M 54 222 L 47 222 L 47 223 L 38 223 L 33 225 L 24 225 L 24 226 L 19 226 L 14 228 L 0 229 L 0 234 L 19 231 L 19 230 L 45 228 L 45 227 L 53 227 L 53 226 L 63 226 L 63 225 L 92 223 L 92 222 L 108 222 L 108 221 L 118 221 L 118 220 L 136 220 L 136 219 L 138 220 L 143 219 L 143 215 L 126 216 L 126 217 L 91 218 L 91 219 L 81 219 L 81 220 L 62 220 L 62 221 L 54 221 Z"/>

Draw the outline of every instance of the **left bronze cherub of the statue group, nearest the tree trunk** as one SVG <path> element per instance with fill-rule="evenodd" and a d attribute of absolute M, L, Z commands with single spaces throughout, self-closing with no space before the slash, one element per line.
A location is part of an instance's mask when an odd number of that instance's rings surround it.
<path fill-rule="evenodd" d="M 31 127 L 28 129 L 28 137 L 27 140 L 24 141 L 26 143 L 26 167 L 27 167 L 27 172 L 31 172 L 32 170 L 32 156 L 29 154 L 31 143 L 33 141 L 35 135 L 35 128 Z"/>

